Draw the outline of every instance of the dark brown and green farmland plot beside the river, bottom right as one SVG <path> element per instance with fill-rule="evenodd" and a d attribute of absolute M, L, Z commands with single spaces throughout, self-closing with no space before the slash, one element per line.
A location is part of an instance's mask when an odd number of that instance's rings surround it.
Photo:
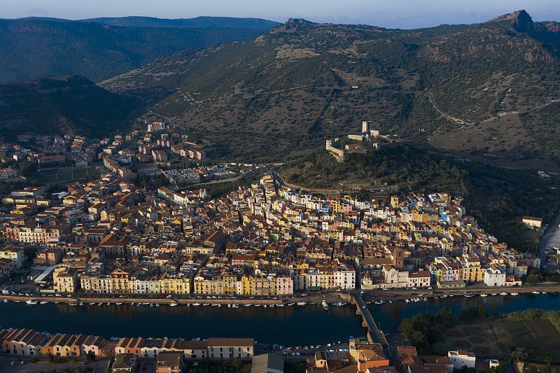
<path fill-rule="evenodd" d="M 560 361 L 560 337 L 544 318 L 456 325 L 447 330 L 445 342 L 449 349 L 466 349 L 481 358 L 509 358 L 510 351 L 524 347 L 532 350 L 530 358 Z"/>

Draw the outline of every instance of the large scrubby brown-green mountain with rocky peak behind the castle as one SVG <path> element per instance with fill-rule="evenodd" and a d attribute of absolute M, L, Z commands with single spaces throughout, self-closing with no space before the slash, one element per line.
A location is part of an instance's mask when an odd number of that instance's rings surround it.
<path fill-rule="evenodd" d="M 539 124 L 558 105 L 559 45 L 560 24 L 524 10 L 414 30 L 288 20 L 253 41 L 179 52 L 102 85 L 169 94 L 153 111 L 214 155 L 286 157 L 371 120 L 411 143 L 538 167 L 560 155 L 560 131 L 549 136 Z"/>

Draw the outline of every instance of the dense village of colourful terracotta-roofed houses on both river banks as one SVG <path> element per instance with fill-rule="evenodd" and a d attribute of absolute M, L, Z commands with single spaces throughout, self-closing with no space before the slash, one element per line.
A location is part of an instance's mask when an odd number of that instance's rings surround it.
<path fill-rule="evenodd" d="M 90 154 L 104 164 L 96 180 L 66 183 L 56 192 L 49 185 L 27 186 L 3 196 L 4 302 L 18 295 L 31 298 L 28 304 L 68 298 L 74 306 L 92 297 L 121 302 L 123 297 L 161 297 L 171 306 L 262 302 L 272 308 L 293 304 L 292 297 L 307 293 L 318 297 L 339 293 L 347 298 L 374 290 L 444 291 L 472 285 L 500 293 L 523 285 L 529 269 L 542 266 L 532 253 L 510 248 L 484 232 L 468 215 L 463 198 L 447 192 L 370 200 L 325 197 L 283 185 L 276 174 L 266 173 L 267 165 L 244 165 L 244 172 L 265 173 L 224 197 L 214 198 L 204 188 L 181 190 L 170 184 L 141 188 L 132 182 L 135 176 L 127 160 L 167 162 L 164 155 L 169 151 L 186 150 L 163 134 L 148 141 L 157 138 L 155 146 L 166 150 L 148 150 L 148 144 L 139 145 L 139 153 L 119 150 L 120 141 L 134 136 L 99 143 L 101 151 L 96 148 L 97 153 Z M 78 162 L 90 162 L 87 149 L 76 150 Z M 12 147 L 8 155 L 13 157 L 16 151 Z M 20 151 L 29 160 L 38 156 L 39 164 L 45 157 L 66 162 L 66 155 Z M 203 160 L 204 153 L 197 152 L 191 158 Z M 232 176 L 228 167 L 208 168 Z M 164 174 L 175 179 L 172 184 L 180 175 L 200 181 L 196 172 Z M 540 218 L 523 220 L 537 230 L 542 224 Z M 551 254 L 549 258 L 559 258 L 559 253 Z M 26 294 L 16 290 L 21 284 L 14 286 L 13 280 L 18 278 L 29 289 Z M 3 351 L 18 356 L 116 356 L 114 372 L 136 372 L 141 358 L 157 359 L 155 372 L 181 372 L 186 358 L 255 355 L 253 339 L 111 341 L 9 328 L 0 331 L 0 340 Z M 449 351 L 448 356 L 426 363 L 413 347 L 399 347 L 399 359 L 390 359 L 385 347 L 353 338 L 347 351 L 317 349 L 307 359 L 308 372 L 424 372 L 427 365 L 430 371 L 452 372 L 454 367 L 475 364 L 467 351 Z M 283 353 L 297 358 L 296 352 Z M 262 359 L 259 356 L 253 364 Z"/>

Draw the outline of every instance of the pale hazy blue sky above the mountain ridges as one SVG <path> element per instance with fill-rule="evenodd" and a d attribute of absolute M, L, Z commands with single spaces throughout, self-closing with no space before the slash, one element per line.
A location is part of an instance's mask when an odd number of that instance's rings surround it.
<path fill-rule="evenodd" d="M 535 21 L 560 21 L 558 0 L 0 0 L 0 17 L 83 19 L 144 15 L 191 18 L 199 15 L 259 17 L 285 22 L 361 23 L 412 29 L 466 24 L 525 9 Z"/>

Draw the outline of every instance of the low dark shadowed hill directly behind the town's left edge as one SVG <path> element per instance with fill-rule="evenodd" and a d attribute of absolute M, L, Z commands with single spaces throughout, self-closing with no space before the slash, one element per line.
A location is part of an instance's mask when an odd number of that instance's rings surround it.
<path fill-rule="evenodd" d="M 143 110 L 138 99 L 80 76 L 0 85 L 0 130 L 7 139 L 25 133 L 109 136 L 130 127 Z"/>

